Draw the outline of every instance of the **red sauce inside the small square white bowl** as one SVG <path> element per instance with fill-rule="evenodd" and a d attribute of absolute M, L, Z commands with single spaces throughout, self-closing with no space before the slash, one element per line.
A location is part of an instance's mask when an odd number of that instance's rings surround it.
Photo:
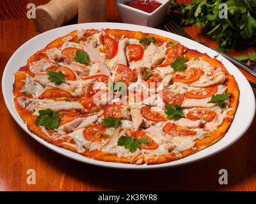
<path fill-rule="evenodd" d="M 132 0 L 124 3 L 127 6 L 131 6 L 132 8 L 136 8 L 141 11 L 145 11 L 147 13 L 152 13 L 162 4 L 155 0 L 149 0 L 147 3 L 144 3 L 144 0 Z"/>

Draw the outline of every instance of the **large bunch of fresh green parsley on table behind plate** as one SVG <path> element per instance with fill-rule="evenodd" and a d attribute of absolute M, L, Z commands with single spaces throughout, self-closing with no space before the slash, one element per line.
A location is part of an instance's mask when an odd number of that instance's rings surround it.
<path fill-rule="evenodd" d="M 241 45 L 256 44 L 256 0 L 193 0 L 190 4 L 170 1 L 170 18 L 180 18 L 180 25 L 202 26 L 205 33 L 218 43 L 221 51 Z M 220 18 L 223 12 L 220 4 L 227 5 L 227 18 Z M 219 8 L 220 6 L 220 8 Z M 173 12 L 178 11 L 178 12 Z"/>

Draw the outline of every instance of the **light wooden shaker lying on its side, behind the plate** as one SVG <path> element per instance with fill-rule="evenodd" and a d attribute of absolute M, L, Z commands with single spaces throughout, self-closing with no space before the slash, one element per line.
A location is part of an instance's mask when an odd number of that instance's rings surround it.
<path fill-rule="evenodd" d="M 34 19 L 36 29 L 45 32 L 60 27 L 77 15 L 78 4 L 79 0 L 52 0 L 36 7 L 36 18 Z"/>

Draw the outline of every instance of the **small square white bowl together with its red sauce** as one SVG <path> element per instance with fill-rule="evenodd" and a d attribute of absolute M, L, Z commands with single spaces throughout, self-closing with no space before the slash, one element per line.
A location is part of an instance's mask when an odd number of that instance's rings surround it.
<path fill-rule="evenodd" d="M 127 24 L 157 27 L 163 22 L 169 0 L 116 0 L 116 7 Z"/>

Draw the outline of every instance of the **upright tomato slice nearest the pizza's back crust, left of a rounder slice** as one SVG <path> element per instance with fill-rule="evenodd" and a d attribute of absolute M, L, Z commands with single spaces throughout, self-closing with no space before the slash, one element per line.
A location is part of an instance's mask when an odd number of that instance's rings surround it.
<path fill-rule="evenodd" d="M 107 59 L 112 59 L 117 54 L 118 43 L 109 36 L 103 36 L 104 52 L 107 54 Z"/>

